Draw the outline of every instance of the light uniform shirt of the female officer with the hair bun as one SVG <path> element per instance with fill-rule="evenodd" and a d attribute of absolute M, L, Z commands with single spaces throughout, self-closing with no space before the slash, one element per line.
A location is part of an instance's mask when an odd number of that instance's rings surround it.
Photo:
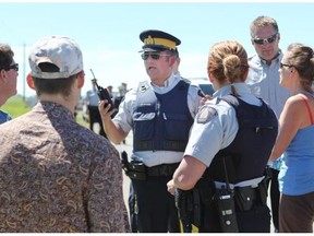
<path fill-rule="evenodd" d="M 242 101 L 262 106 L 262 102 L 251 94 L 245 83 L 234 83 L 233 85 Z M 230 145 L 239 130 L 234 108 L 225 101 L 216 104 L 217 97 L 231 94 L 230 87 L 230 85 L 226 85 L 219 88 L 214 93 L 215 98 L 200 108 L 184 152 L 184 155 L 197 158 L 207 167 L 219 150 Z"/>

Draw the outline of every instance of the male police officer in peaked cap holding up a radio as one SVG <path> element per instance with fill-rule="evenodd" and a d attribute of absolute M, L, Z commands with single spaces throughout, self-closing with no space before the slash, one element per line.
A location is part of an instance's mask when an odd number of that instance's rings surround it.
<path fill-rule="evenodd" d="M 198 87 L 172 72 L 180 39 L 155 30 L 142 32 L 140 38 L 149 80 L 125 94 L 113 120 L 109 105 L 105 108 L 107 101 L 98 107 L 112 142 L 120 143 L 133 131 L 132 161 L 126 174 L 136 199 L 137 231 L 179 232 L 174 198 L 167 191 L 167 182 L 182 160 L 201 97 Z M 168 226 L 169 222 L 176 225 Z"/>

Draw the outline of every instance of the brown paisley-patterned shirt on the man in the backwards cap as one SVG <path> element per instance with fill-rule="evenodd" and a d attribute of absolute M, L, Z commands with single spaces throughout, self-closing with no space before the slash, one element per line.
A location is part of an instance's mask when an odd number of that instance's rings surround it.
<path fill-rule="evenodd" d="M 118 151 L 55 103 L 1 125 L 0 232 L 130 232 Z"/>

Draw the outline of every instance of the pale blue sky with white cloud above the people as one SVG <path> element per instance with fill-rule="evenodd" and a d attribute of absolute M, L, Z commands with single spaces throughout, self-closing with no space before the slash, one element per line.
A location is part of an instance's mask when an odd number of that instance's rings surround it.
<path fill-rule="evenodd" d="M 26 96 L 35 94 L 24 86 L 28 49 L 47 35 L 65 35 L 81 46 L 86 73 L 82 95 L 90 88 L 89 69 L 100 85 L 113 85 L 113 91 L 122 82 L 130 88 L 147 79 L 138 35 L 149 28 L 181 39 L 180 72 L 185 78 L 206 76 L 214 43 L 238 40 L 254 54 L 250 24 L 258 15 L 277 20 L 283 51 L 295 42 L 314 47 L 314 2 L 0 2 L 0 42 L 15 52 L 17 93 Z"/>

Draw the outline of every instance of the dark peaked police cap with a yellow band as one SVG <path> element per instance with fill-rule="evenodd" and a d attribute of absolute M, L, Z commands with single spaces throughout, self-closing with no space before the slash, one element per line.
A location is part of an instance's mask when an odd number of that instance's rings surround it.
<path fill-rule="evenodd" d="M 173 35 L 157 30 L 142 32 L 140 39 L 144 43 L 142 47 L 144 50 L 177 50 L 177 46 L 181 44 L 181 40 Z"/>

